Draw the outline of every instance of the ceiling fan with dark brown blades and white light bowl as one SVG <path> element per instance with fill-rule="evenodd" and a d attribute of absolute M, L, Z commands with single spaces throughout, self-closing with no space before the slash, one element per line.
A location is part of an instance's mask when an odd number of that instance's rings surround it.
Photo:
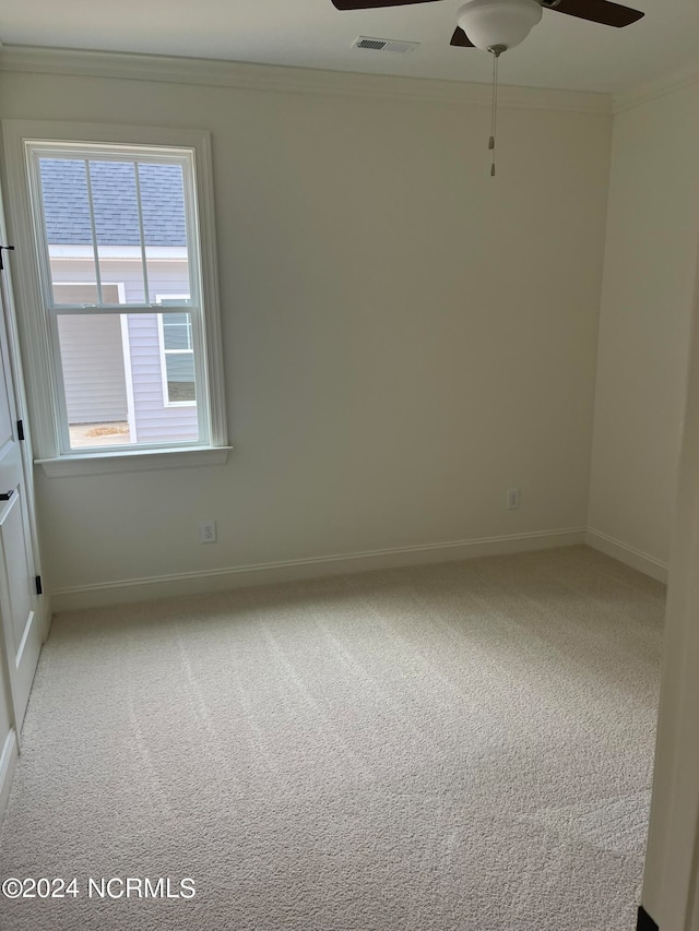
<path fill-rule="evenodd" d="M 332 0 L 337 10 L 407 7 L 434 0 Z M 605 26 L 628 26 L 643 13 L 609 0 L 467 0 L 457 11 L 450 45 L 479 48 L 496 57 L 523 41 L 542 19 L 542 8 Z"/>

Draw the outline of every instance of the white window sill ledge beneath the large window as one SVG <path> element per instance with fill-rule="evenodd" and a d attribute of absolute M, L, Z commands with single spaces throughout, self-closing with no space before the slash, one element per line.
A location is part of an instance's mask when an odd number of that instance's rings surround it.
<path fill-rule="evenodd" d="M 57 456 L 34 459 L 48 478 L 84 475 L 110 475 L 122 472 L 145 472 L 159 468 L 223 465 L 233 446 L 191 446 L 169 450 L 141 450 L 138 453 L 91 453 L 90 455 Z"/>

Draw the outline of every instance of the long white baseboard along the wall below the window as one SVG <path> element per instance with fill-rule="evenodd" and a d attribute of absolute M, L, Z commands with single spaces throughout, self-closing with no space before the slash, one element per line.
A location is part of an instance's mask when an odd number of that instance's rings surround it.
<path fill-rule="evenodd" d="M 483 537 L 473 540 L 454 540 L 427 546 L 369 550 L 311 559 L 293 559 L 285 562 L 265 562 L 204 572 L 182 572 L 176 575 L 155 575 L 145 578 L 126 578 L 96 585 L 60 588 L 51 593 L 55 611 L 96 608 L 150 598 L 201 595 L 206 592 L 225 592 L 270 582 L 292 582 L 323 575 L 344 575 L 376 569 L 395 569 L 429 562 L 448 562 L 474 559 L 482 556 L 553 549 L 585 542 L 585 528 L 542 530 L 534 534 L 512 534 L 502 537 Z"/>

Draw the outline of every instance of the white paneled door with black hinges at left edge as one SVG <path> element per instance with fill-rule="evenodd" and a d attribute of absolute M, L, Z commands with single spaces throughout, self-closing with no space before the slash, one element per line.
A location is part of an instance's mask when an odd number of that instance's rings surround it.
<path fill-rule="evenodd" d="M 7 253 L 0 253 L 7 256 Z M 7 261 L 7 258 L 4 259 Z M 0 620 L 17 732 L 24 720 L 43 631 L 29 524 L 29 501 L 17 435 L 10 369 L 9 296 L 0 272 Z"/>

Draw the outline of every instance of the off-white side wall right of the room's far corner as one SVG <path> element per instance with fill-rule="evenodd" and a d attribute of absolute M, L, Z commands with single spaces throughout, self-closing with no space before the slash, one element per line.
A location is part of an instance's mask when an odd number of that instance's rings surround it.
<path fill-rule="evenodd" d="M 659 563 L 674 514 L 698 241 L 696 83 L 614 122 L 589 524 Z"/>

